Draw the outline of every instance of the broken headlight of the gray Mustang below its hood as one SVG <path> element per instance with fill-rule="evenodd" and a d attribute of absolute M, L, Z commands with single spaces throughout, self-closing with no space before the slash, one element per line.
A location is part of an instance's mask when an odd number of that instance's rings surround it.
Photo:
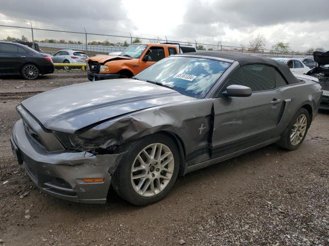
<path fill-rule="evenodd" d="M 63 132 L 53 132 L 54 135 L 60 140 L 62 145 L 66 149 L 74 150 L 95 150 L 95 149 L 106 149 L 116 145 L 114 139 L 109 139 L 108 137 L 99 137 L 96 139 L 86 139 L 81 136 L 63 133 Z"/>

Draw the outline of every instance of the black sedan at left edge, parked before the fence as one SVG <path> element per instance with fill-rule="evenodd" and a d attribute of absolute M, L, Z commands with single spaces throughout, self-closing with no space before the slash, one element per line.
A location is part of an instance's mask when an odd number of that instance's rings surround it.
<path fill-rule="evenodd" d="M 52 60 L 25 45 L 0 42 L 0 75 L 21 74 L 25 79 L 53 73 Z"/>

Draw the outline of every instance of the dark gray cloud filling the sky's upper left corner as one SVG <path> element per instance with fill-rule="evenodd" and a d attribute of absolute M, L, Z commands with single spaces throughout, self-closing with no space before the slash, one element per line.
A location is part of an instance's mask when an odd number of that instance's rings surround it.
<path fill-rule="evenodd" d="M 135 28 L 127 18 L 121 1 L 11 0 L 1 4 L 0 13 L 19 22 L 39 22 L 53 26 L 80 26 L 89 29 L 130 31 Z"/>

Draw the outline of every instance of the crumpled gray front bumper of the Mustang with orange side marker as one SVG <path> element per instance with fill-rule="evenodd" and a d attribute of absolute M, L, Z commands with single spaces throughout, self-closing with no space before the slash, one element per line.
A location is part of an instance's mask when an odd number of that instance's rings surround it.
<path fill-rule="evenodd" d="M 31 180 L 42 191 L 77 202 L 105 203 L 111 173 L 121 154 L 94 155 L 89 152 L 47 152 L 25 130 L 23 120 L 13 127 L 11 145 Z M 104 178 L 102 182 L 84 182 L 85 178 Z"/>

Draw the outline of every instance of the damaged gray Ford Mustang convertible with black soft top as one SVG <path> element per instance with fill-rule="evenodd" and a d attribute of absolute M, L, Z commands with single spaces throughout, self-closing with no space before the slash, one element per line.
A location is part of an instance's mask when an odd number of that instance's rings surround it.
<path fill-rule="evenodd" d="M 110 186 L 145 205 L 178 175 L 276 142 L 297 149 L 321 86 L 272 59 L 194 52 L 131 79 L 66 86 L 17 106 L 13 153 L 41 190 L 103 203 Z"/>

